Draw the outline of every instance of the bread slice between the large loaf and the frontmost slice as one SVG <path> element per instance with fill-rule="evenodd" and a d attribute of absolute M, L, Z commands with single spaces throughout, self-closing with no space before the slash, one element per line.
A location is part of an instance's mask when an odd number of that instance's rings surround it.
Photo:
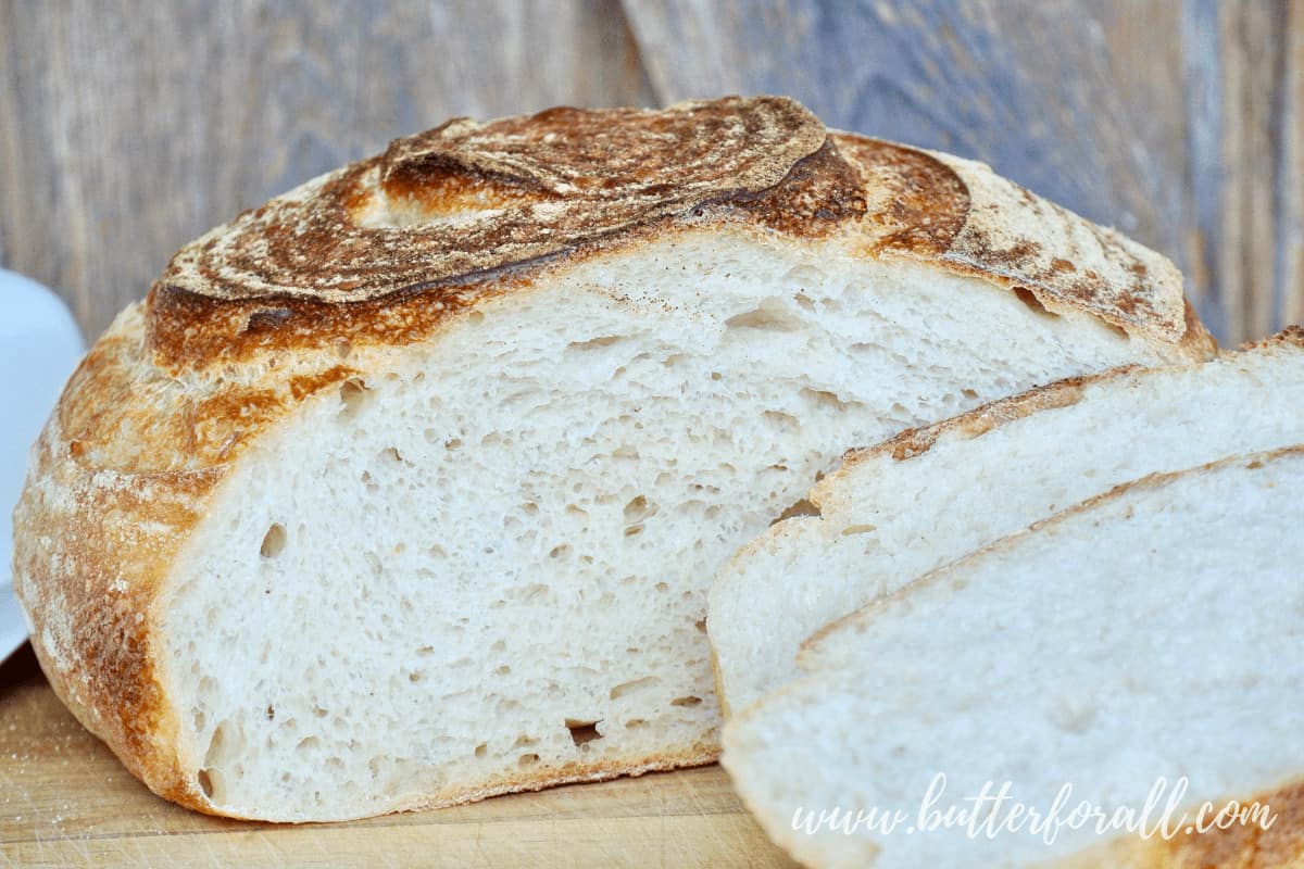
<path fill-rule="evenodd" d="M 1110 371 L 848 455 L 721 571 L 707 629 L 721 705 L 797 677 L 822 625 L 1119 483 L 1304 443 L 1304 330 L 1196 366 Z"/>

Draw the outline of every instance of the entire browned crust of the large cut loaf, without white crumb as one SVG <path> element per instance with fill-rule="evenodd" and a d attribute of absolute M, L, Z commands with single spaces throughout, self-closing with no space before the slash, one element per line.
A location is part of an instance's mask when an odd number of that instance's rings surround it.
<path fill-rule="evenodd" d="M 1214 349 L 1159 254 L 979 164 L 831 134 L 788 99 L 450 121 L 188 245 L 81 363 L 14 513 L 14 589 L 55 691 L 155 792 L 215 810 L 177 756 L 188 713 L 162 687 L 158 632 L 173 567 L 243 452 L 489 300 L 698 232 L 908 258 L 1175 360 Z M 540 770 L 407 808 L 713 757 Z"/>

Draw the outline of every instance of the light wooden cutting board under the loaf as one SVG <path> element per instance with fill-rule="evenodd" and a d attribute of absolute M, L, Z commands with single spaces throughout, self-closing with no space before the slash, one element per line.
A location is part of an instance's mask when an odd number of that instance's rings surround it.
<path fill-rule="evenodd" d="M 158 799 L 59 702 L 31 649 L 0 667 L 0 866 L 793 866 L 719 766 L 326 825 Z"/>

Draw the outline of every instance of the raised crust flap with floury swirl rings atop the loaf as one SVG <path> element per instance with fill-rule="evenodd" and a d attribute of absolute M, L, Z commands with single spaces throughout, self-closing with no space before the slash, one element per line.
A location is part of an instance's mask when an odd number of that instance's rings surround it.
<path fill-rule="evenodd" d="M 570 253 L 703 206 L 759 205 L 805 160 L 822 172 L 803 186 L 822 189 L 781 214 L 789 231 L 814 231 L 865 210 L 858 178 L 827 139 L 815 115 L 778 96 L 454 119 L 245 211 L 183 248 L 162 280 L 220 300 L 365 301 Z M 780 216 L 769 199 L 760 219 Z"/>

